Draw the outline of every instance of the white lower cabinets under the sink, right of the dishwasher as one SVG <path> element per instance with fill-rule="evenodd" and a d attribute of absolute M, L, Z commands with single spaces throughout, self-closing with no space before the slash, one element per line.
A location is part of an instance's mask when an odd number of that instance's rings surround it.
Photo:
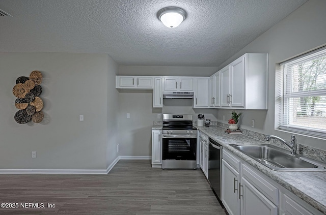
<path fill-rule="evenodd" d="M 322 214 L 225 148 L 221 174 L 221 200 L 230 215 Z"/>

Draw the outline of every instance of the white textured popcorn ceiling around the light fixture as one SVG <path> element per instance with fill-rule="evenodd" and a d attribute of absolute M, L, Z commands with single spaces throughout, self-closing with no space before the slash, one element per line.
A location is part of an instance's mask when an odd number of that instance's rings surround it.
<path fill-rule="evenodd" d="M 0 0 L 0 52 L 107 53 L 120 65 L 219 66 L 307 0 Z M 167 28 L 158 10 L 187 18 Z"/>

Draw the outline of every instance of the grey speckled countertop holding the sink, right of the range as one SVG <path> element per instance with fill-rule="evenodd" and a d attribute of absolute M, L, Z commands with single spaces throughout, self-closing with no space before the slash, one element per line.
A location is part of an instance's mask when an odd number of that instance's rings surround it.
<path fill-rule="evenodd" d="M 244 135 L 227 134 L 224 132 L 225 129 L 219 126 L 196 126 L 196 128 L 203 134 L 220 143 L 223 147 L 232 151 L 243 161 L 248 162 L 279 183 L 282 187 L 291 191 L 294 195 L 326 214 L 326 172 L 286 172 L 270 170 L 249 156 L 244 155 L 244 153 L 229 146 L 229 144 L 266 144 L 266 142 Z"/>

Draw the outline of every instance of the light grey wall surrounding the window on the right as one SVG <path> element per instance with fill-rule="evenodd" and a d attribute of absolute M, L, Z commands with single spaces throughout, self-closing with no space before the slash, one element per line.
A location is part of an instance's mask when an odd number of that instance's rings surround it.
<path fill-rule="evenodd" d="M 244 47 L 227 60 L 219 69 L 222 69 L 234 59 L 246 52 L 268 53 L 268 111 L 242 111 L 241 127 L 263 134 L 273 134 L 286 140 L 290 133 L 274 130 L 275 122 L 275 68 L 276 64 L 293 56 L 304 53 L 326 44 L 326 1 L 310 0 L 281 22 L 271 27 L 267 32 L 252 43 Z M 222 115 L 230 115 L 229 110 L 219 110 L 219 119 Z M 251 128 L 251 119 L 255 119 L 255 127 Z M 326 150 L 326 141 L 295 135 L 298 143 Z"/>

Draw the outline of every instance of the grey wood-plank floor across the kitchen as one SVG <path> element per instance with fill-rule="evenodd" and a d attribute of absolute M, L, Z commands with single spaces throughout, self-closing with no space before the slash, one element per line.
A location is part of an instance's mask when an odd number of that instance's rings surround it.
<path fill-rule="evenodd" d="M 226 214 L 200 169 L 162 170 L 149 160 L 120 160 L 107 175 L 0 175 L 0 203 L 19 204 L 0 207 L 2 215 Z"/>

